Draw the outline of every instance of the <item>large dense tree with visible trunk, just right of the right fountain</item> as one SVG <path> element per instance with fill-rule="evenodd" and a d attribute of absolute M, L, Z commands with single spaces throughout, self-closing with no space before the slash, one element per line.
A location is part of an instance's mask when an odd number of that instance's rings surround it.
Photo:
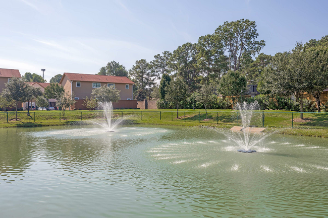
<path fill-rule="evenodd" d="M 297 42 L 292 51 L 277 53 L 259 78 L 258 91 L 275 96 L 294 95 L 296 102 L 300 104 L 300 111 L 303 112 L 303 99 L 309 96 L 307 92 L 312 83 L 306 58 L 301 42 Z M 300 118 L 303 119 L 303 113 Z"/>

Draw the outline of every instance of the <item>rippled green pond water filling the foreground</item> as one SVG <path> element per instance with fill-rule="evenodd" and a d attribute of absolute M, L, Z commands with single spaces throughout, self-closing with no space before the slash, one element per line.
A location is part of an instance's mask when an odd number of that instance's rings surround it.
<path fill-rule="evenodd" d="M 213 129 L 0 129 L 0 217 L 328 217 L 327 139 L 244 154 Z"/>

